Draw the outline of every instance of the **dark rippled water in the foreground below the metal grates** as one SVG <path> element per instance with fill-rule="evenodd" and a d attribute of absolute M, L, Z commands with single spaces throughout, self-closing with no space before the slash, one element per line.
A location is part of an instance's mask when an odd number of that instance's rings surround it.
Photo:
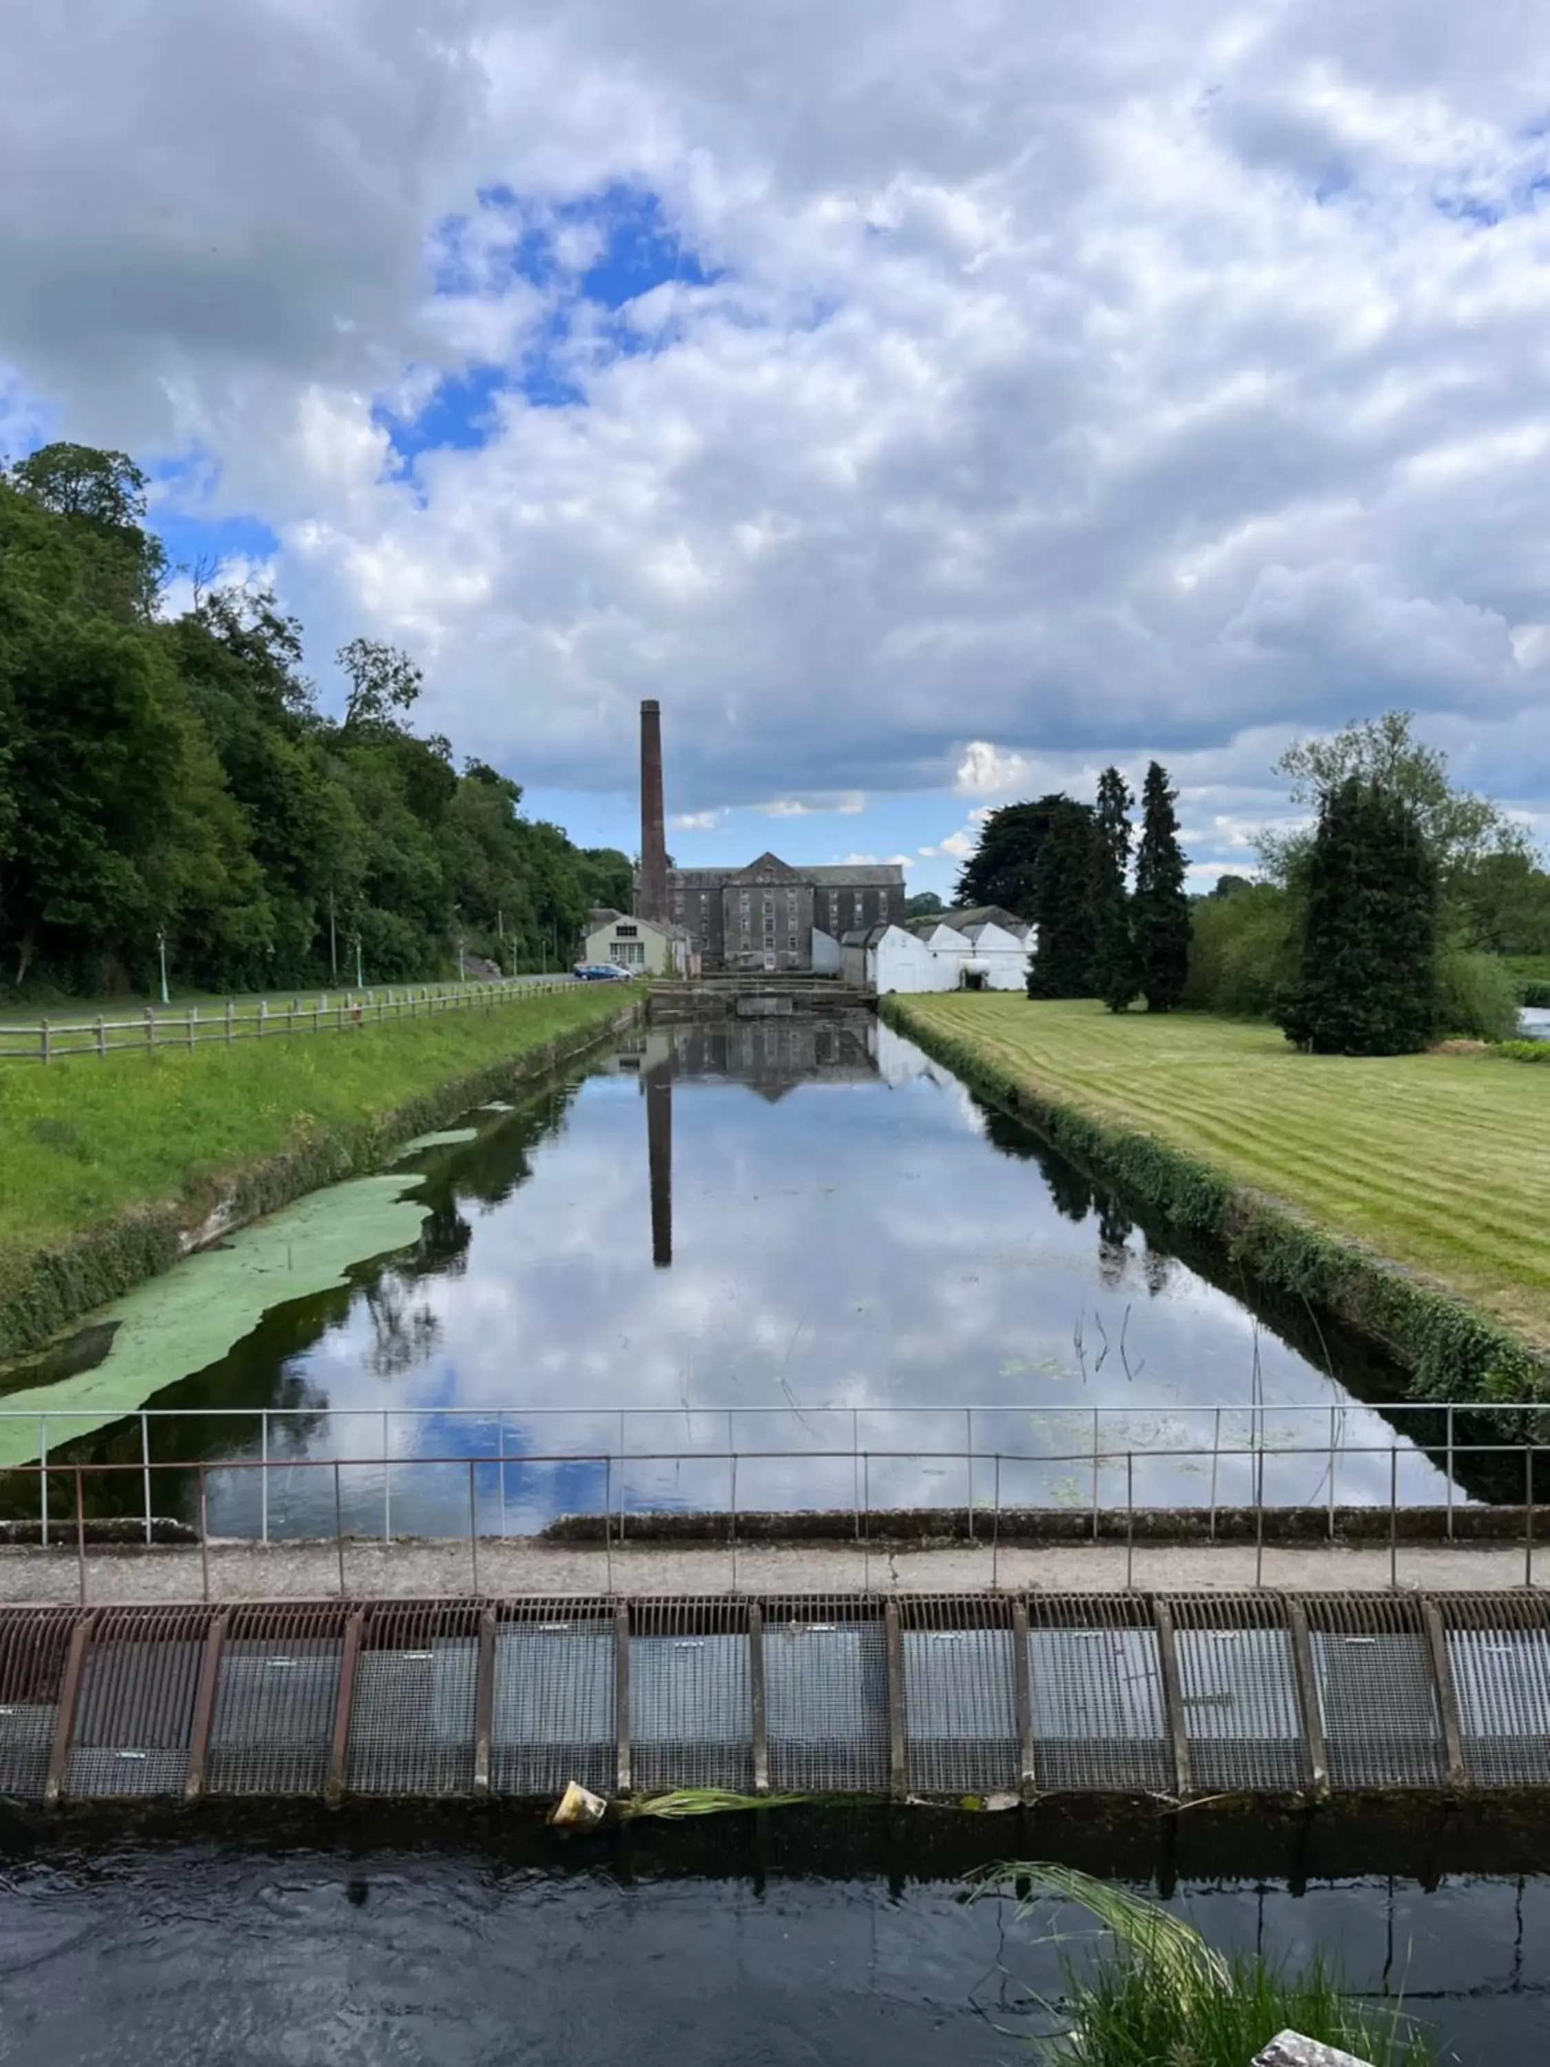
<path fill-rule="evenodd" d="M 1314 1873 L 1292 1893 L 1197 1871 L 1172 1906 L 1228 1951 L 1302 1964 L 1321 1947 L 1350 1988 L 1403 1999 L 1461 2067 L 1550 2057 L 1542 1875 L 1445 1873 L 1424 1891 Z M 1060 1993 L 1056 1929 L 1087 1926 L 965 1904 L 951 1875 L 839 1862 L 556 1871 L 490 1844 L 0 1860 L 0 2061 L 1027 2063 Z"/>

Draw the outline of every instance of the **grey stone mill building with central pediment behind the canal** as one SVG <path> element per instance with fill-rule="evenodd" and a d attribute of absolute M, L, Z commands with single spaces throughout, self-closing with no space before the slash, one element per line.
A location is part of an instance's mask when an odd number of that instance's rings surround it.
<path fill-rule="evenodd" d="M 839 971 L 839 940 L 903 918 L 897 862 L 794 868 L 761 854 L 746 868 L 670 868 L 668 914 L 705 969 Z"/>

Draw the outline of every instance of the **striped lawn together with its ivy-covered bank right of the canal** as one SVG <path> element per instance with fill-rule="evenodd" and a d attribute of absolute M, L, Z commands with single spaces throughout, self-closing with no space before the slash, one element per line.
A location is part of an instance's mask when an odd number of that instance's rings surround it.
<path fill-rule="evenodd" d="M 887 1015 L 1066 1153 L 1387 1341 L 1434 1397 L 1550 1391 L 1550 1081 L 1023 996 Z M 1397 1265 L 1397 1267 L 1395 1267 Z"/>

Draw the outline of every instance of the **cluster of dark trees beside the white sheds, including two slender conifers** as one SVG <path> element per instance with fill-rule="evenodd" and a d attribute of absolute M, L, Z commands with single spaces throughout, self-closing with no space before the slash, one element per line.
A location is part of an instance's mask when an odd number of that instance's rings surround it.
<path fill-rule="evenodd" d="M 1031 998 L 1102 998 L 1114 1013 L 1137 998 L 1151 1013 L 1182 1002 L 1190 899 L 1176 800 L 1153 761 L 1141 785 L 1135 887 L 1135 796 L 1116 767 L 1099 775 L 1095 804 L 1054 792 L 990 814 L 959 874 L 957 903 L 1002 905 L 1029 920 Z"/>

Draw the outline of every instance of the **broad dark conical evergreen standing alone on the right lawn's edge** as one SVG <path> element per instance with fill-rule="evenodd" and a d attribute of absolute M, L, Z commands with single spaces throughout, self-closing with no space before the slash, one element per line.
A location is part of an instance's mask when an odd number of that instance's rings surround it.
<path fill-rule="evenodd" d="M 1319 812 L 1302 967 L 1277 1025 L 1314 1054 L 1414 1054 L 1432 1036 L 1436 934 L 1436 858 L 1416 812 L 1347 777 Z"/>

